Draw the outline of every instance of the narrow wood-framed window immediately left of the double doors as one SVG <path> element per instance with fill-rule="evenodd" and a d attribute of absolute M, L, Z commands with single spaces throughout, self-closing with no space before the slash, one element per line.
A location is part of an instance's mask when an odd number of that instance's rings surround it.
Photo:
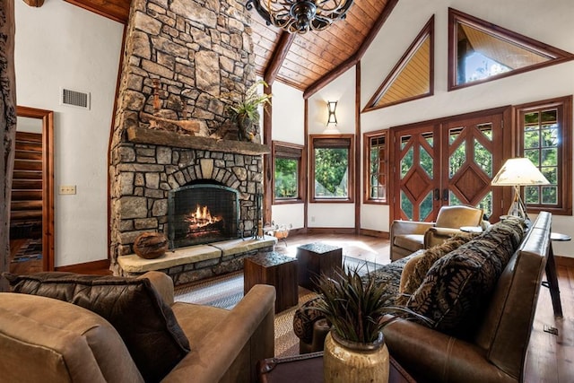
<path fill-rule="evenodd" d="M 388 150 L 387 131 L 365 133 L 364 143 L 364 184 L 365 204 L 387 203 Z"/>

